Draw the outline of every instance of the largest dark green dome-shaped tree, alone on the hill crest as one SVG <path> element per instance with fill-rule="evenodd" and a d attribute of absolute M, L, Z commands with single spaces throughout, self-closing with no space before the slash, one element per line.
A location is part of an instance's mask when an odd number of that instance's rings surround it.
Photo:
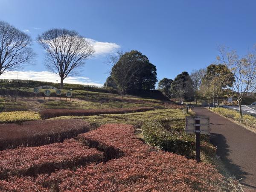
<path fill-rule="evenodd" d="M 111 69 L 111 77 L 121 88 L 122 94 L 127 89 L 154 89 L 157 68 L 149 62 L 147 56 L 137 50 L 131 50 L 119 54 Z"/>

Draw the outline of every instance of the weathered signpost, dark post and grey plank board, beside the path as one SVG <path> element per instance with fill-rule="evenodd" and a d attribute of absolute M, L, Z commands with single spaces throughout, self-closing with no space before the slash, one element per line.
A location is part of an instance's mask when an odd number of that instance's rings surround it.
<path fill-rule="evenodd" d="M 209 117 L 186 116 L 187 134 L 195 134 L 195 159 L 200 162 L 200 134 L 210 134 Z"/>

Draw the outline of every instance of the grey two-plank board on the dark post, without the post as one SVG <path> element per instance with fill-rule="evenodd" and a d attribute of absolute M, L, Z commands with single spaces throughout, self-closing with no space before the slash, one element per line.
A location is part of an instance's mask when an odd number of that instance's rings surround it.
<path fill-rule="evenodd" d="M 196 124 L 195 120 L 200 120 L 200 124 Z M 200 126 L 200 131 L 195 131 L 195 126 Z M 185 131 L 187 134 L 195 134 L 196 132 L 200 134 L 210 134 L 209 117 L 186 116 Z"/>

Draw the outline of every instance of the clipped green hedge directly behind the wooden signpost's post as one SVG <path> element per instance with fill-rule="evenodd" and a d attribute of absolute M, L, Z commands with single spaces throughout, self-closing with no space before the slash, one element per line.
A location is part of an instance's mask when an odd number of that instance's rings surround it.
<path fill-rule="evenodd" d="M 142 125 L 143 137 L 157 148 L 191 158 L 195 156 L 195 135 L 186 134 L 184 127 L 185 119 L 151 120 Z M 215 154 L 215 147 L 206 135 L 201 135 L 201 150 L 211 156 Z"/>

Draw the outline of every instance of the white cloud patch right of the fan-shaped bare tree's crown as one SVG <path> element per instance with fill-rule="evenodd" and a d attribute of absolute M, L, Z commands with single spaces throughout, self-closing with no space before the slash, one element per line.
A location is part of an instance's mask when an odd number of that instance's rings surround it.
<path fill-rule="evenodd" d="M 109 42 L 101 42 L 96 41 L 94 39 L 85 38 L 87 41 L 90 41 L 90 43 L 93 45 L 95 49 L 95 55 L 106 55 L 109 53 L 115 52 L 117 49 L 120 48 L 118 44 L 115 43 L 109 43 Z"/>

